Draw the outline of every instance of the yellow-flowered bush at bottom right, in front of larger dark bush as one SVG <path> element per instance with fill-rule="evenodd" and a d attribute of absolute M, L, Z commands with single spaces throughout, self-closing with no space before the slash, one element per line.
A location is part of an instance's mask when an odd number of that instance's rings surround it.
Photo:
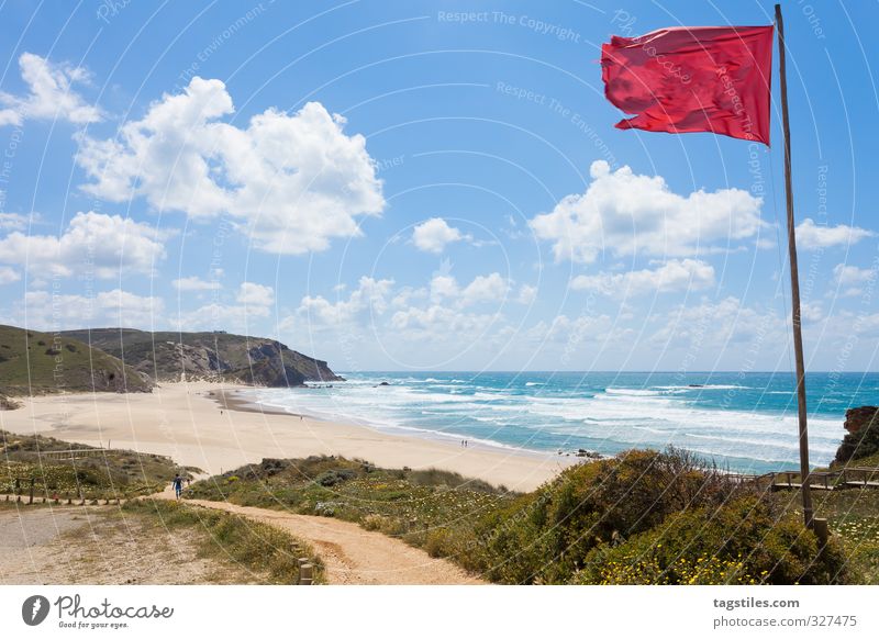
<path fill-rule="evenodd" d="M 833 584 L 847 581 L 836 539 L 817 539 L 793 514 L 757 496 L 669 516 L 614 547 L 603 542 L 575 578 L 581 584 Z"/>

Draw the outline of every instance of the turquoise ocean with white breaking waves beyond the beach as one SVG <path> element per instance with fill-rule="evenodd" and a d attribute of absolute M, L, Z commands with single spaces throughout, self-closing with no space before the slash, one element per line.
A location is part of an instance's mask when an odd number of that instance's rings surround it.
<path fill-rule="evenodd" d="M 318 418 L 509 451 L 690 450 L 735 472 L 799 468 L 792 373 L 349 372 L 332 388 L 251 397 Z M 387 382 L 388 385 L 379 385 Z M 879 373 L 810 373 L 812 466 L 827 464 L 846 408 L 879 404 Z"/>

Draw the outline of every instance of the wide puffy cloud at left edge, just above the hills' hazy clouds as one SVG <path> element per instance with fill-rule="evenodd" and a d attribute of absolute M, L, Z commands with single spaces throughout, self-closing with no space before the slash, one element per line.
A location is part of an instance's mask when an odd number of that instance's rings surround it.
<path fill-rule="evenodd" d="M 151 273 L 165 257 L 168 231 L 103 213 L 77 213 L 60 236 L 13 232 L 0 239 L 0 264 L 37 276 L 70 277 L 92 270 L 101 279 Z"/>

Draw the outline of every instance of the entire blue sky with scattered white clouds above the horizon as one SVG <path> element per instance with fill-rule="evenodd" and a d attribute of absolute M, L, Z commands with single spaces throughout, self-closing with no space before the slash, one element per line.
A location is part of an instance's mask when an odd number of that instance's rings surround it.
<path fill-rule="evenodd" d="M 783 4 L 808 370 L 877 370 L 874 2 Z M 771 148 L 621 131 L 611 35 L 772 3 L 0 3 L 0 323 L 357 370 L 790 370 Z M 774 66 L 777 67 L 777 51 Z"/>

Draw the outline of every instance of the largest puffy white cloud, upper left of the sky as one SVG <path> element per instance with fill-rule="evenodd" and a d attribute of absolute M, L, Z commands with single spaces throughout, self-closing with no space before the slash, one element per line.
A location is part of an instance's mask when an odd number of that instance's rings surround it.
<path fill-rule="evenodd" d="M 82 137 L 84 189 L 122 202 L 143 197 L 193 218 L 229 214 L 256 248 L 303 254 L 360 235 L 357 217 L 385 206 L 381 181 L 363 135 L 344 117 L 309 102 L 288 115 L 269 109 L 246 128 L 221 121 L 234 112 L 220 80 L 193 78 L 165 94 L 116 137 Z"/>

